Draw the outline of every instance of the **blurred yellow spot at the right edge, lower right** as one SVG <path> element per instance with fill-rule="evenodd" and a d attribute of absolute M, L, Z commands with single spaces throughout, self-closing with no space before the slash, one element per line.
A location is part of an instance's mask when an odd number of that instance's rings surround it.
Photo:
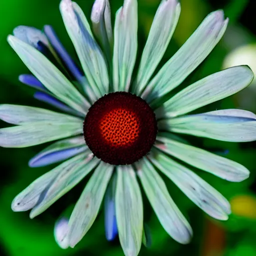
<path fill-rule="evenodd" d="M 230 200 L 232 213 L 247 217 L 256 218 L 256 198 L 251 195 L 236 195 Z"/>

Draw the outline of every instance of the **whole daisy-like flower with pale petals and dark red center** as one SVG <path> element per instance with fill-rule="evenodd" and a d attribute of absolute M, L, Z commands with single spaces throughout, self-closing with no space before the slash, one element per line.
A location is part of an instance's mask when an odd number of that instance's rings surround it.
<path fill-rule="evenodd" d="M 0 105 L 0 118 L 16 125 L 0 129 L 1 146 L 26 147 L 58 140 L 34 156 L 29 166 L 64 160 L 21 191 L 12 201 L 12 209 L 31 209 L 33 218 L 93 171 L 70 218 L 55 225 L 55 239 L 61 247 L 73 247 L 82 239 L 104 198 L 107 239 L 118 233 L 124 254 L 137 255 L 144 230 L 138 180 L 162 227 L 176 241 L 187 243 L 191 227 L 169 195 L 160 171 L 207 214 L 227 219 L 228 201 L 175 159 L 235 182 L 247 178 L 249 171 L 173 133 L 224 141 L 256 139 L 256 115 L 251 112 L 225 109 L 187 114 L 243 89 L 253 73 L 247 66 L 231 67 L 168 96 L 220 40 L 228 22 L 223 12 L 208 14 L 156 74 L 178 22 L 177 0 L 161 1 L 137 70 L 136 0 L 124 0 L 116 12 L 113 33 L 108 0 L 95 0 L 92 29 L 75 2 L 62 0 L 60 12 L 83 71 L 49 25 L 43 32 L 18 26 L 14 36 L 8 36 L 33 74 L 20 75 L 20 81 L 38 89 L 35 98 L 65 112 Z M 55 65 L 47 56 L 55 59 Z"/>

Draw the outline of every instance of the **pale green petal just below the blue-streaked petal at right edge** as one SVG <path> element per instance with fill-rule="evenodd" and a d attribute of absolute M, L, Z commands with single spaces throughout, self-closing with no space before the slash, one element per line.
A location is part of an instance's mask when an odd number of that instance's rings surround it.
<path fill-rule="evenodd" d="M 249 176 L 249 170 L 235 161 L 210 153 L 198 147 L 180 143 L 167 136 L 168 134 L 158 133 L 156 139 L 159 142 L 155 143 L 154 146 L 181 159 L 185 163 L 191 164 L 229 181 L 238 182 Z"/>

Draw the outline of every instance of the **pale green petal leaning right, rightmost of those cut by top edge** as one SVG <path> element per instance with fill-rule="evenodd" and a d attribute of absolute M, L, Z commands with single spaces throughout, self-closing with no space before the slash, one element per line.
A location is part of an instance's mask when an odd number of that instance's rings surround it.
<path fill-rule="evenodd" d="M 162 0 L 155 15 L 142 52 L 136 80 L 136 94 L 140 94 L 159 64 L 180 14 L 177 0 Z"/>

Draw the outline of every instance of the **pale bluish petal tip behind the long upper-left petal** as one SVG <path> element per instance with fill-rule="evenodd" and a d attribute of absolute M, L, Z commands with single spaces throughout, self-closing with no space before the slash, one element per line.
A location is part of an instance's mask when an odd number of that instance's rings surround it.
<path fill-rule="evenodd" d="M 38 46 L 38 41 L 43 42 L 46 46 L 49 45 L 46 35 L 35 27 L 22 25 L 17 26 L 13 29 L 13 34 L 23 42 L 26 42 L 35 48 Z"/>

